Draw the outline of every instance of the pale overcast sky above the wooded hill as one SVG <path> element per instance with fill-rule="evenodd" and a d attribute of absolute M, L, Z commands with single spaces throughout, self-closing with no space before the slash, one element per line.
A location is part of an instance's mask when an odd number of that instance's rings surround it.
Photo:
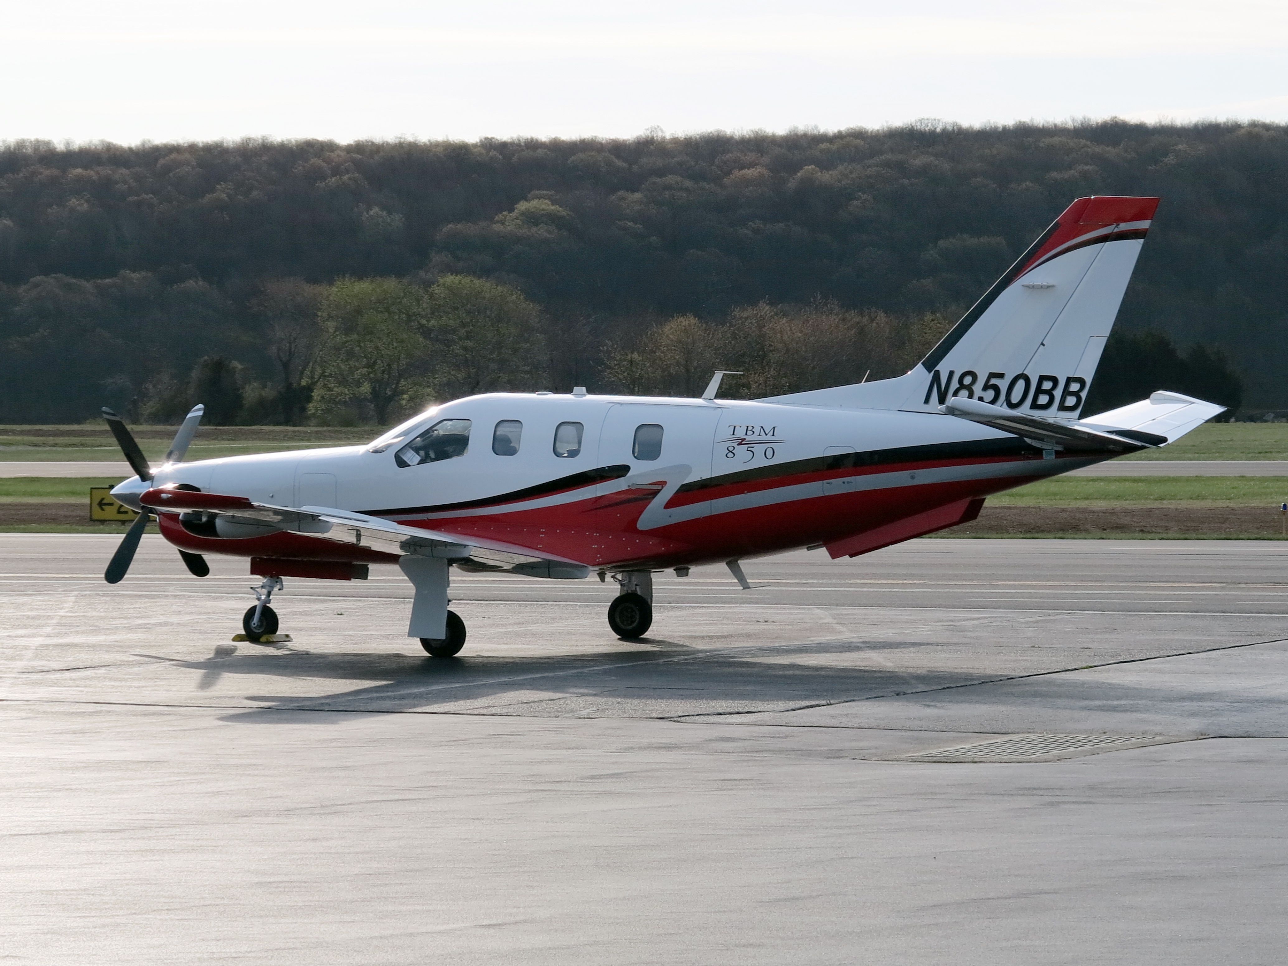
<path fill-rule="evenodd" d="M 28 0 L 0 140 L 1288 121 L 1284 0 Z"/>

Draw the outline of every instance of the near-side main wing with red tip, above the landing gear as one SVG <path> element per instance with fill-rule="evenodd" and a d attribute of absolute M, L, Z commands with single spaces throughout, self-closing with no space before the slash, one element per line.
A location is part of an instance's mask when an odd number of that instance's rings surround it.
<path fill-rule="evenodd" d="M 464 571 L 518 573 L 526 577 L 581 580 L 590 568 L 527 553 L 496 541 L 462 544 L 450 533 L 407 527 L 380 516 L 368 516 L 328 506 L 273 506 L 241 496 L 201 493 L 192 489 L 149 489 L 139 497 L 147 507 L 170 513 L 201 511 L 234 523 L 269 523 L 285 531 L 305 533 L 350 546 L 368 546 L 390 554 L 440 556 Z"/>

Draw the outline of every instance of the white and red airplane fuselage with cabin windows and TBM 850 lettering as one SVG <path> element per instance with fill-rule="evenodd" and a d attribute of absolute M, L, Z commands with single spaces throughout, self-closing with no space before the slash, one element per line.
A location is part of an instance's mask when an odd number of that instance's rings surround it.
<path fill-rule="evenodd" d="M 495 393 L 437 406 L 368 446 L 167 465 L 153 486 L 358 511 L 623 569 L 827 545 L 1114 455 L 1043 451 L 926 412 Z M 196 553 L 383 559 L 300 533 L 161 526 Z"/>

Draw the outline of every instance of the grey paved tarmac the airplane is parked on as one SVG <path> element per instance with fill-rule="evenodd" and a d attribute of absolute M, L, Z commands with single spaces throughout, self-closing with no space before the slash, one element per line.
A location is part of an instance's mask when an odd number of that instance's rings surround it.
<path fill-rule="evenodd" d="M 1282 958 L 1282 544 L 788 554 L 659 574 L 635 643 L 611 583 L 459 576 L 453 661 L 392 568 L 234 644 L 245 563 L 113 547 L 0 535 L 18 962 Z"/>

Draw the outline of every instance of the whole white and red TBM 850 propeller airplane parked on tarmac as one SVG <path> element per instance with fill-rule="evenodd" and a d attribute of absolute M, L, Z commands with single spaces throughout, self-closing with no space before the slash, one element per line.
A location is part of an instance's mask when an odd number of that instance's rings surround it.
<path fill-rule="evenodd" d="M 1082 406 L 1158 207 L 1078 198 L 912 371 L 756 401 L 596 395 L 577 386 L 433 406 L 367 446 L 184 462 L 183 421 L 152 468 L 104 417 L 135 475 L 112 495 L 142 515 L 104 578 L 125 577 L 148 520 L 188 571 L 249 558 L 263 578 L 249 640 L 278 631 L 283 578 L 365 580 L 398 565 L 407 636 L 453 657 L 465 623 L 451 569 L 612 577 L 622 639 L 653 620 L 653 574 L 687 576 L 800 547 L 853 558 L 974 520 L 984 500 L 1124 453 L 1167 446 L 1224 411 L 1171 392 L 1082 417 Z"/>

